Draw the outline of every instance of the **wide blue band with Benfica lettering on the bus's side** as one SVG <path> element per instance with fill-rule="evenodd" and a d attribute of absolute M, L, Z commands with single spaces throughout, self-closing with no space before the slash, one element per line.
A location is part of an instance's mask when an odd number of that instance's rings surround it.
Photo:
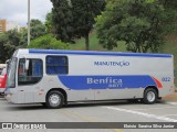
<path fill-rule="evenodd" d="M 65 87 L 73 90 L 146 88 L 147 86 L 157 87 L 156 81 L 148 75 L 58 77 Z"/>

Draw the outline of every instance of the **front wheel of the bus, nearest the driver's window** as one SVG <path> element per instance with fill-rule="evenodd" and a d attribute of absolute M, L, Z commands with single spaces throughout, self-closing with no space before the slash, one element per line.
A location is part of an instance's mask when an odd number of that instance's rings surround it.
<path fill-rule="evenodd" d="M 63 106 L 64 96 L 58 90 L 50 91 L 46 96 L 46 107 L 51 109 L 58 109 Z"/>

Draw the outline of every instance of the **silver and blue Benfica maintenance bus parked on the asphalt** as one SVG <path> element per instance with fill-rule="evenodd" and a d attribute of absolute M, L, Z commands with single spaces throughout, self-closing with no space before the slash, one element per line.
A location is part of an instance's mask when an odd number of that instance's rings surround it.
<path fill-rule="evenodd" d="M 6 98 L 13 103 L 61 108 L 67 102 L 115 99 L 152 105 L 174 94 L 170 54 L 18 50 Z"/>

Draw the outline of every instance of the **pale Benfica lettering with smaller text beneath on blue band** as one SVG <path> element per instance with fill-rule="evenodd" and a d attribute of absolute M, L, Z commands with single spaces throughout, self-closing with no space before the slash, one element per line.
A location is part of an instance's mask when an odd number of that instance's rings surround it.
<path fill-rule="evenodd" d="M 105 85 L 107 88 L 117 88 L 123 86 L 122 79 L 116 79 L 112 77 L 106 78 L 87 78 L 87 85 Z"/>

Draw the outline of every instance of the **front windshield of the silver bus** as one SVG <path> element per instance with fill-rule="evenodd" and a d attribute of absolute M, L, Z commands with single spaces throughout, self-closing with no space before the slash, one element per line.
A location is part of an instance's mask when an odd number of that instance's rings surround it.
<path fill-rule="evenodd" d="M 7 88 L 15 87 L 15 68 L 17 68 L 18 58 L 13 57 L 9 64 L 9 72 L 7 78 Z"/>

